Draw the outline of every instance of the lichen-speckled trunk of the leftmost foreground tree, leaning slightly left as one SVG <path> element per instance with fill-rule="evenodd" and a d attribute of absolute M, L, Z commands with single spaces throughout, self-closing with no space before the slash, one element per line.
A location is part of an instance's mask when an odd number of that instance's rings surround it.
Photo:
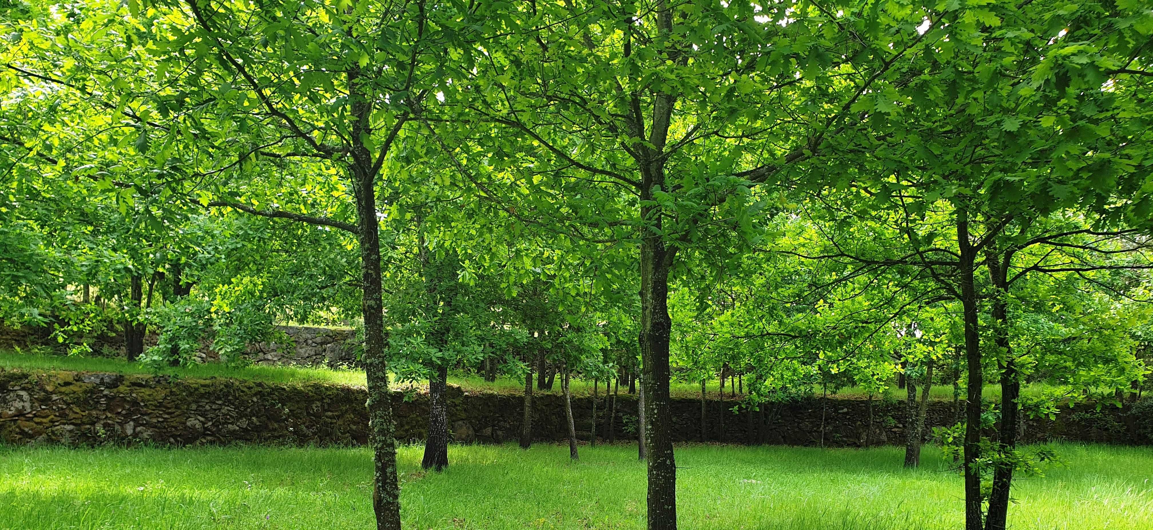
<path fill-rule="evenodd" d="M 355 106 L 355 105 L 354 105 Z M 361 154 L 361 159 L 367 157 Z M 364 166 L 361 166 L 364 167 Z M 380 286 L 380 234 L 376 215 L 375 179 L 354 171 L 357 238 L 361 251 L 361 315 L 364 318 L 364 373 L 368 381 L 369 433 L 372 446 L 372 510 L 377 530 L 400 530 L 400 486 L 393 438 L 389 365 L 385 359 L 384 289 Z"/>

